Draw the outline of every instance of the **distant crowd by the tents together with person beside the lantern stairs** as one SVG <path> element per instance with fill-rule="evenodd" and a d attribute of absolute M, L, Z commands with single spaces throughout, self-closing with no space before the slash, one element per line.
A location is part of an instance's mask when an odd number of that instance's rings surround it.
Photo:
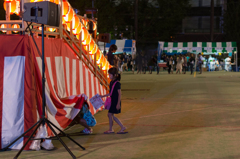
<path fill-rule="evenodd" d="M 111 65 L 114 65 L 118 68 L 120 73 L 124 71 L 137 71 L 137 73 L 146 74 L 149 71 L 149 74 L 152 74 L 153 70 L 157 71 L 159 74 L 159 66 L 157 61 L 157 53 L 149 54 L 141 51 L 135 57 L 132 55 L 123 54 L 113 54 L 117 50 L 116 45 L 111 45 L 108 54 L 106 55 L 108 61 Z M 202 56 L 201 53 L 195 57 L 196 54 L 187 53 L 184 55 L 172 55 L 167 56 L 165 54 L 161 55 L 161 61 L 167 63 L 167 67 L 164 70 L 168 70 L 169 74 L 172 74 L 176 71 L 176 74 L 186 74 L 186 71 L 190 71 L 193 74 L 193 70 L 199 71 L 201 74 L 203 69 L 218 71 L 226 70 L 231 71 L 231 57 L 224 56 L 215 56 L 215 55 L 206 55 Z M 196 63 L 195 63 L 196 62 Z"/>

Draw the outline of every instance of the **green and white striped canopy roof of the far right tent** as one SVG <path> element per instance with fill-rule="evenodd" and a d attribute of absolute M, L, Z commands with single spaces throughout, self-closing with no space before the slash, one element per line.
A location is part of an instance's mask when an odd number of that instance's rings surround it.
<path fill-rule="evenodd" d="M 237 51 L 236 42 L 163 42 L 159 41 L 158 50 L 166 54 L 203 54 L 231 53 Z"/>

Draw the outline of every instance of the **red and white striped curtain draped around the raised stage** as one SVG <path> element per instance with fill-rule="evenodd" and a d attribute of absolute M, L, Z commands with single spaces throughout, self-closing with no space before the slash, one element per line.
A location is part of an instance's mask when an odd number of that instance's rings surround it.
<path fill-rule="evenodd" d="M 4 148 L 41 115 L 42 59 L 29 36 L 1 35 L 0 42 L 0 148 Z M 41 52 L 41 38 L 36 42 Z M 96 93 L 106 93 L 61 39 L 45 38 L 45 65 L 46 116 L 60 129 L 70 124 L 83 102 Z M 90 104 L 90 111 L 98 110 Z M 50 129 L 48 133 L 52 135 Z M 20 139 L 11 148 L 21 148 L 26 140 Z"/>

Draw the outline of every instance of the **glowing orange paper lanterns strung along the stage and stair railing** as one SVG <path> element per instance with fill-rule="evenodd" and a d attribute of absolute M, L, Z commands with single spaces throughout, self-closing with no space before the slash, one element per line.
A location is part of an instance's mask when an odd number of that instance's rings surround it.
<path fill-rule="evenodd" d="M 44 0 L 30 0 L 30 2 L 40 2 L 40 1 L 44 1 Z M 48 0 L 50 2 L 59 4 L 60 0 Z M 10 13 L 11 14 L 19 14 L 19 6 L 20 6 L 20 0 L 5 0 L 4 1 L 4 8 L 6 10 L 6 3 L 10 4 Z M 72 22 L 72 31 L 73 34 L 79 39 L 80 37 L 80 33 L 82 32 L 82 43 L 84 46 L 84 49 L 86 51 L 89 51 L 89 54 L 92 55 L 92 58 L 94 59 L 94 54 L 96 53 L 96 61 L 97 64 L 100 65 L 102 64 L 102 69 L 103 70 L 107 70 L 111 67 L 111 65 L 109 65 L 107 59 L 104 57 L 104 55 L 102 54 L 102 52 L 100 51 L 100 49 L 98 48 L 98 46 L 96 45 L 95 41 L 92 39 L 91 34 L 89 34 L 88 30 L 86 29 L 87 25 L 88 25 L 88 20 L 87 19 L 83 19 L 83 18 L 79 18 L 79 16 L 77 16 L 73 10 L 73 8 L 71 7 L 71 5 L 69 4 L 69 2 L 67 0 L 64 0 L 62 2 L 62 22 L 63 24 L 67 25 L 67 30 L 70 31 L 70 22 Z M 12 25 L 12 28 L 19 28 L 20 26 L 18 24 L 14 24 Z M 1 28 L 6 28 L 5 24 L 1 25 Z M 95 30 L 97 28 L 96 23 L 93 22 L 93 30 Z M 55 28 L 48 28 L 49 31 L 55 31 Z M 2 31 L 2 32 L 6 32 L 6 31 Z M 14 31 L 14 32 L 18 32 L 18 31 Z"/>

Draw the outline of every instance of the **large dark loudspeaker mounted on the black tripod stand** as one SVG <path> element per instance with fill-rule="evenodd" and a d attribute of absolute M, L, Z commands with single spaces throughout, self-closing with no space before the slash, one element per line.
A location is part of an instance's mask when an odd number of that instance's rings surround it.
<path fill-rule="evenodd" d="M 60 7 L 59 5 L 44 1 L 24 4 L 23 20 L 50 26 L 59 26 Z"/>

